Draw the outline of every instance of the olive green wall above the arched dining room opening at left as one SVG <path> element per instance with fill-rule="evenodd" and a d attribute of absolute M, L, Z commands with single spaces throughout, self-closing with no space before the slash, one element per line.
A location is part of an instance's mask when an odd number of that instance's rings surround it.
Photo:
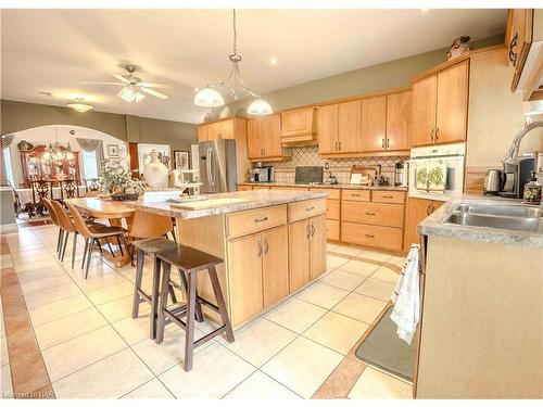
<path fill-rule="evenodd" d="M 123 141 L 169 144 L 175 150 L 189 150 L 198 142 L 197 126 L 189 123 L 159 120 L 132 115 L 87 112 L 47 104 L 2 100 L 0 132 L 9 135 L 39 126 L 71 125 L 105 132 Z"/>

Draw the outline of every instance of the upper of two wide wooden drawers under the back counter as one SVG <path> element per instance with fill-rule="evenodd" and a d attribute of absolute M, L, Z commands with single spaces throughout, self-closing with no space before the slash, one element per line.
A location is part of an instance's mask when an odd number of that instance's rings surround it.
<path fill-rule="evenodd" d="M 341 241 L 393 252 L 402 251 L 402 229 L 341 222 Z"/>

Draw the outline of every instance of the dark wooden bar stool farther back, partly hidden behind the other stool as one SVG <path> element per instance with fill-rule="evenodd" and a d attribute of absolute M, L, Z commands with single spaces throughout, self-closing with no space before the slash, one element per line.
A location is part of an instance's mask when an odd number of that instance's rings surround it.
<path fill-rule="evenodd" d="M 138 318 L 139 305 L 147 302 L 151 305 L 151 314 L 149 315 L 150 326 L 149 326 L 149 336 L 151 339 L 156 338 L 156 309 L 159 307 L 159 285 L 160 285 L 160 271 L 161 262 L 156 258 L 156 253 L 175 249 L 177 243 L 165 239 L 165 238 L 153 238 L 153 239 L 142 239 L 132 242 L 132 246 L 137 252 L 136 260 L 136 282 L 134 284 L 134 300 L 132 300 L 132 318 Z M 143 264 L 146 260 L 146 255 L 151 256 L 153 262 L 153 279 L 151 293 L 147 293 L 141 288 L 141 282 L 143 280 Z M 172 285 L 168 285 L 168 292 L 172 296 L 172 302 L 176 303 L 177 298 L 174 293 Z"/>

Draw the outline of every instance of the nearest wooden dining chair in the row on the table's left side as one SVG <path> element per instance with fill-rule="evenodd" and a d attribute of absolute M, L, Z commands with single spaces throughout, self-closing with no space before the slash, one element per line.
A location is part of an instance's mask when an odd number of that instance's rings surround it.
<path fill-rule="evenodd" d="M 124 228 L 119 226 L 106 226 L 101 224 L 90 224 L 90 225 L 86 224 L 84 217 L 81 216 L 77 207 L 67 202 L 66 206 L 70 209 L 70 214 L 72 215 L 72 221 L 74 222 L 77 232 L 85 239 L 85 250 L 83 253 L 83 264 L 81 264 L 83 268 L 85 265 L 85 259 L 87 259 L 85 278 L 87 278 L 89 275 L 90 258 L 92 257 L 92 250 L 94 247 L 94 244 L 97 244 L 100 247 L 101 239 L 116 238 L 121 250 L 121 255 L 123 255 L 122 244 L 124 244 L 126 250 L 128 250 L 128 244 L 125 239 L 126 230 Z"/>

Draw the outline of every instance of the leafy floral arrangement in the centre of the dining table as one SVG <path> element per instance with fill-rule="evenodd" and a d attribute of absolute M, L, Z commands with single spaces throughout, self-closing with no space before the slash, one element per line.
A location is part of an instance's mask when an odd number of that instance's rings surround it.
<path fill-rule="evenodd" d="M 122 166 L 105 165 L 98 176 L 102 192 L 114 201 L 136 201 L 141 188 Z"/>

